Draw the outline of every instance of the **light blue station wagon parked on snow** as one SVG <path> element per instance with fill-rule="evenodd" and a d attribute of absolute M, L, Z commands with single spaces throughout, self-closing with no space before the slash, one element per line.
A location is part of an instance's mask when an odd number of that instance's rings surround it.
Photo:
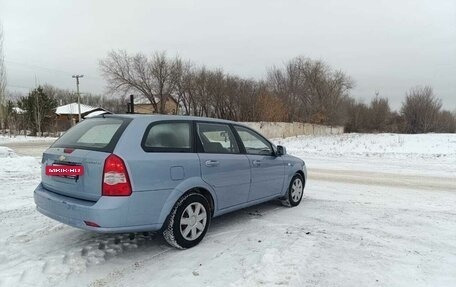
<path fill-rule="evenodd" d="M 62 173 L 66 167 L 77 174 Z M 34 198 L 39 212 L 74 227 L 160 231 L 189 248 L 212 217 L 272 199 L 298 205 L 305 180 L 301 159 L 236 122 L 105 115 L 44 152 Z"/>

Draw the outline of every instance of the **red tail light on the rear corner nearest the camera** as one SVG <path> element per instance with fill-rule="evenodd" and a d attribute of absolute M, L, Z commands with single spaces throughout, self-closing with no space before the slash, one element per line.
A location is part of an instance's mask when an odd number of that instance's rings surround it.
<path fill-rule="evenodd" d="M 129 196 L 131 184 L 124 161 L 115 154 L 109 155 L 105 160 L 103 169 L 104 196 Z"/>

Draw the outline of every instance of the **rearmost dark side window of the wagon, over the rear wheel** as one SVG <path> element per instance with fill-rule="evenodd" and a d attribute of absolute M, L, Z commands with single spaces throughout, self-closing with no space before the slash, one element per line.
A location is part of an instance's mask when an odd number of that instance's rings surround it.
<path fill-rule="evenodd" d="M 142 146 L 148 152 L 191 152 L 191 142 L 189 122 L 158 122 L 147 128 Z"/>

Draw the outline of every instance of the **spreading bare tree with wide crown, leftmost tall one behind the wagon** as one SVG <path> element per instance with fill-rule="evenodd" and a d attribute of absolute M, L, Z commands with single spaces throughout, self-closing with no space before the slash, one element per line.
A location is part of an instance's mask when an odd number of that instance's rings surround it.
<path fill-rule="evenodd" d="M 154 110 L 165 113 L 165 104 L 172 96 L 179 79 L 179 58 L 169 59 L 165 52 L 151 57 L 126 51 L 112 51 L 100 61 L 101 71 L 112 92 L 137 92 L 149 99 Z"/>

